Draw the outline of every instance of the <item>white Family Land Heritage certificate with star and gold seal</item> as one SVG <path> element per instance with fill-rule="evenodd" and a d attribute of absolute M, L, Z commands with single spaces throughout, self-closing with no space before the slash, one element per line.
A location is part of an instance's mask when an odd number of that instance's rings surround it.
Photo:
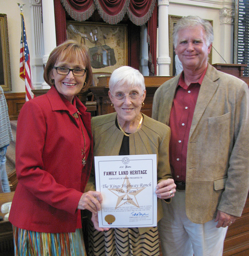
<path fill-rule="evenodd" d="M 156 154 L 95 156 L 95 175 L 103 196 L 100 227 L 157 225 Z"/>

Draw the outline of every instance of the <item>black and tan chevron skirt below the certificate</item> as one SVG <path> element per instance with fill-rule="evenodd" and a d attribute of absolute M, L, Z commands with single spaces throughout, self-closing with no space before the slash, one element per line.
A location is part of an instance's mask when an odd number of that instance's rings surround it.
<path fill-rule="evenodd" d="M 138 228 L 112 228 L 97 231 L 89 223 L 88 256 L 159 256 L 157 227 L 144 234 Z"/>

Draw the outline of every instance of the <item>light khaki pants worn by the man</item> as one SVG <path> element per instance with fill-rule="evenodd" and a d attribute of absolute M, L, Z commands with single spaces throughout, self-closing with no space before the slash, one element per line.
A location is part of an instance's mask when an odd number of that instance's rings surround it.
<path fill-rule="evenodd" d="M 216 225 L 214 220 L 191 222 L 185 211 L 185 191 L 176 191 L 170 204 L 163 203 L 158 223 L 163 256 L 222 256 L 228 228 Z"/>

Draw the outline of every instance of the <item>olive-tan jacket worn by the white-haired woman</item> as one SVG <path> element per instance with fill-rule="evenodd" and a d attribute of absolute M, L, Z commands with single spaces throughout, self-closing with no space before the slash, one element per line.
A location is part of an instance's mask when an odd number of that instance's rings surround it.
<path fill-rule="evenodd" d="M 116 127 L 117 113 L 92 118 L 94 156 L 119 155 L 124 133 Z M 129 153 L 157 155 L 157 181 L 172 178 L 169 166 L 170 128 L 143 115 L 142 127 L 129 135 Z M 164 202 L 163 202 L 164 203 Z M 158 200 L 157 221 L 162 218 Z M 141 229 L 139 229 L 140 231 Z"/>

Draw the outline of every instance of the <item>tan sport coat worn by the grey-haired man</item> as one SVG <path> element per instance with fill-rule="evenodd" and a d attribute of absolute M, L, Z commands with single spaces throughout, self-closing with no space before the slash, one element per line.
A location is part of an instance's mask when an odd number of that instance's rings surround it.
<path fill-rule="evenodd" d="M 180 75 L 161 85 L 152 118 L 168 125 Z M 186 213 L 195 223 L 217 209 L 241 216 L 249 190 L 249 90 L 242 80 L 208 65 L 190 128 Z"/>

